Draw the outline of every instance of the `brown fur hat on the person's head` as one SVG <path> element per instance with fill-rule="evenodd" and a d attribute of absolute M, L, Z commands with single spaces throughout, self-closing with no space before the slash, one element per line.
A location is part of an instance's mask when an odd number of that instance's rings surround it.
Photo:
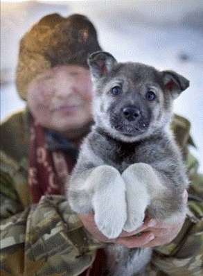
<path fill-rule="evenodd" d="M 44 70 L 60 64 L 88 67 L 87 55 L 100 51 L 94 25 L 84 15 L 42 17 L 19 44 L 16 85 L 26 100 L 28 84 Z"/>

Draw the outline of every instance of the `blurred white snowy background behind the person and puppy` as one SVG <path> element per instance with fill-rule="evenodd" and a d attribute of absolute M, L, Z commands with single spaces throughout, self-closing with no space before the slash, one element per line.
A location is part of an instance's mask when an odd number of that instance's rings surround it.
<path fill-rule="evenodd" d="M 15 91 L 18 42 L 43 15 L 80 12 L 94 22 L 100 44 L 119 61 L 173 69 L 191 82 L 174 112 L 192 123 L 193 154 L 203 172 L 203 1 L 1 1 L 1 119 L 24 107 Z"/>

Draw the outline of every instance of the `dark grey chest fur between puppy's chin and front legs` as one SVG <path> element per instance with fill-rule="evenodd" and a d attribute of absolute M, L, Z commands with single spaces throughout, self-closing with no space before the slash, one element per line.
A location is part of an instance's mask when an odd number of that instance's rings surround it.
<path fill-rule="evenodd" d="M 96 129 L 91 132 L 88 140 L 94 154 L 100 157 L 104 164 L 114 166 L 120 173 L 134 163 L 152 164 L 160 158 L 160 151 L 163 151 L 161 158 L 163 154 L 167 154 L 164 144 L 168 144 L 168 141 L 163 137 L 162 141 L 160 137 L 152 137 L 143 141 L 125 143 L 110 137 L 103 130 Z M 159 152 L 157 146 L 159 146 Z"/>

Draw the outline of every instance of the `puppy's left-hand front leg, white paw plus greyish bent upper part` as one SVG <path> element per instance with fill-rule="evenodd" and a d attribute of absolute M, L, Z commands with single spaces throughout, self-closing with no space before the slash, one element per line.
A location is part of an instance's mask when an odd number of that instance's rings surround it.
<path fill-rule="evenodd" d="M 76 167 L 67 196 L 74 212 L 94 211 L 98 230 L 107 238 L 114 239 L 123 230 L 127 219 L 125 182 L 114 167 L 101 165 L 87 171 Z"/>

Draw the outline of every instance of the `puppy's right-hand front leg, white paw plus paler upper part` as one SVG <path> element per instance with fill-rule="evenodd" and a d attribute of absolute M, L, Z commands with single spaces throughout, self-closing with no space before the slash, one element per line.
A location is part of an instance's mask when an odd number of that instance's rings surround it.
<path fill-rule="evenodd" d="M 130 165 L 122 174 L 126 184 L 127 221 L 124 230 L 132 232 L 141 226 L 145 210 L 152 198 L 163 191 L 152 166 L 143 163 Z"/>

